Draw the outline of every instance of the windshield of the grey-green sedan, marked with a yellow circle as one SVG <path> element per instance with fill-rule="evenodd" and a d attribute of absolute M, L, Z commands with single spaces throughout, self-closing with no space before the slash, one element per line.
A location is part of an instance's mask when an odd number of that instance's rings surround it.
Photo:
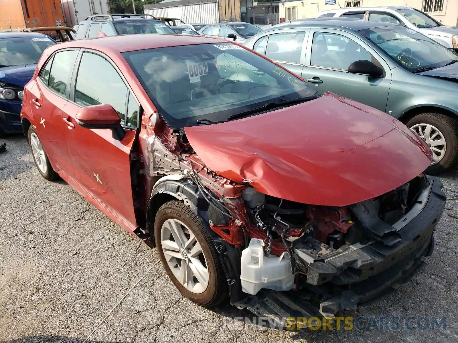
<path fill-rule="evenodd" d="M 412 72 L 439 68 L 458 59 L 439 43 L 402 26 L 374 27 L 360 33 Z"/>

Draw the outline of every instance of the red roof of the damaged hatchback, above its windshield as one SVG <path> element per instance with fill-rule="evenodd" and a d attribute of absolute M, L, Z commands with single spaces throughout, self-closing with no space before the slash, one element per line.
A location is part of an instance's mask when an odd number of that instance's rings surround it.
<path fill-rule="evenodd" d="M 153 48 L 165 48 L 193 44 L 230 44 L 224 39 L 209 38 L 205 36 L 184 36 L 180 34 L 131 34 L 117 35 L 102 38 L 77 39 L 58 44 L 58 49 L 88 48 L 102 52 L 128 52 Z"/>

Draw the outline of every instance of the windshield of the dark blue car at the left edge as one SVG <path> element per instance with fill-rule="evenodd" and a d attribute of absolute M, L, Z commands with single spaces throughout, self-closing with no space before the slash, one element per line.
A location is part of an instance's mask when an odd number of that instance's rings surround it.
<path fill-rule="evenodd" d="M 43 50 L 55 42 L 47 37 L 18 37 L 0 39 L 0 68 L 35 64 Z"/>

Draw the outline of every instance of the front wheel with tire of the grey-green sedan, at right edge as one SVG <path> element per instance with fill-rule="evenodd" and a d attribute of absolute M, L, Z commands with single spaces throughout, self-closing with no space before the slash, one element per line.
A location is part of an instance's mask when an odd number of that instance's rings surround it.
<path fill-rule="evenodd" d="M 439 131 L 439 134 L 434 139 L 440 139 L 441 135 L 443 139 L 445 139 L 445 145 L 436 147 L 440 150 L 444 150 L 445 148 L 445 153 L 442 153 L 440 161 L 436 163 L 433 161 L 433 164 L 426 168 L 426 174 L 436 175 L 449 170 L 458 160 L 458 121 L 441 113 L 430 112 L 420 113 L 406 123 L 406 125 L 417 134 L 419 134 L 419 128 L 422 128 L 421 124 L 432 125 L 432 127 L 434 127 L 432 130 L 433 133 L 436 132 L 434 129 Z M 430 142 L 427 139 L 423 140 L 425 140 L 426 143 Z M 433 150 L 433 154 L 437 155 L 438 153 Z"/>

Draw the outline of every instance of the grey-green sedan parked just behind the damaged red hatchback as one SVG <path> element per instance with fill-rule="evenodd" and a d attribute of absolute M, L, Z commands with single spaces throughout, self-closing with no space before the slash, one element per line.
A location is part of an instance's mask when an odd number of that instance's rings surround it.
<path fill-rule="evenodd" d="M 437 174 L 458 160 L 458 56 L 419 32 L 388 22 L 288 21 L 244 43 L 333 92 L 398 118 L 433 152 Z M 355 130 L 370 132 L 373 128 Z M 326 144 L 326 142 L 323 142 Z"/>

